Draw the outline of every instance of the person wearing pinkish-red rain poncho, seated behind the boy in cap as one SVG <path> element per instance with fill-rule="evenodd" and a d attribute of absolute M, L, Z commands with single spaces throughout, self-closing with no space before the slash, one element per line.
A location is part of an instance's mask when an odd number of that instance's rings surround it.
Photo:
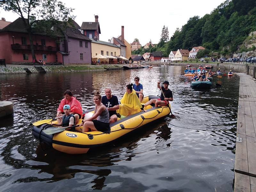
<path fill-rule="evenodd" d="M 73 97 L 73 93 L 70 90 L 67 90 L 63 93 L 64 99 L 60 101 L 60 105 L 57 109 L 56 117 L 61 117 L 63 115 L 63 106 L 70 105 L 70 113 L 75 116 L 76 124 L 78 119 L 81 118 L 83 114 L 81 103 Z M 58 119 L 58 122 L 61 121 L 61 118 Z"/>

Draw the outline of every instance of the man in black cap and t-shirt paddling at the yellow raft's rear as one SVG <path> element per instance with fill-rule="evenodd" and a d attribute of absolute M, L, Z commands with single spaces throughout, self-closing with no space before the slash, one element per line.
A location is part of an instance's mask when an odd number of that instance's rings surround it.
<path fill-rule="evenodd" d="M 169 82 L 168 81 L 164 81 L 164 86 L 160 87 L 160 82 L 157 82 L 157 87 L 161 90 L 163 90 L 163 93 L 161 93 L 160 99 L 151 99 L 149 100 L 147 103 L 144 104 L 144 106 L 142 105 L 142 107 L 146 107 L 152 103 L 155 103 L 155 107 L 158 106 L 167 106 L 169 105 L 169 101 L 173 101 L 173 96 L 172 96 L 172 91 L 168 88 L 169 86 Z M 165 96 L 165 97 L 164 97 Z"/>

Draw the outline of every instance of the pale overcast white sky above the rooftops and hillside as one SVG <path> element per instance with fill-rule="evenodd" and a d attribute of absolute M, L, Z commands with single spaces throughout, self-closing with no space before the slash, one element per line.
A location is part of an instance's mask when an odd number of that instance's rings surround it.
<path fill-rule="evenodd" d="M 62 0 L 67 7 L 74 8 L 73 15 L 78 25 L 82 22 L 94 22 L 94 15 L 99 16 L 100 40 L 108 41 L 112 37 L 121 35 L 121 26 L 124 26 L 124 39 L 132 43 L 138 38 L 144 46 L 151 39 L 153 44 L 159 42 L 162 28 L 168 27 L 169 37 L 176 28 L 185 25 L 190 17 L 198 15 L 200 18 L 210 14 L 213 9 L 223 3 L 223 0 L 183 0 L 183 1 L 80 1 Z M 0 9 L 0 18 L 14 21 L 17 13 L 5 12 Z"/>

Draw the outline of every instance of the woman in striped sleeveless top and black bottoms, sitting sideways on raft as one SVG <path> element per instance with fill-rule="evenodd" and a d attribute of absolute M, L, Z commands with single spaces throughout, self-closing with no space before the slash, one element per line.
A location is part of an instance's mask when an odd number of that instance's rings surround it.
<path fill-rule="evenodd" d="M 83 125 L 83 128 L 80 128 L 79 126 L 76 127 L 76 130 L 80 132 L 88 132 L 89 129 L 91 129 L 92 131 L 110 133 L 108 109 L 101 103 L 99 92 L 93 96 L 93 102 L 95 103 L 95 110 L 92 117 L 87 118 L 84 122 L 82 121 L 80 126 Z"/>

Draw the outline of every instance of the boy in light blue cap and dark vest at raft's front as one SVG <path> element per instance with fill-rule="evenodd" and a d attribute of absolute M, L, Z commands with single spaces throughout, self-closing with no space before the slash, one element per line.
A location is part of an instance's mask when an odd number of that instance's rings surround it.
<path fill-rule="evenodd" d="M 52 125 L 60 126 L 61 127 L 71 127 L 75 125 L 75 116 L 70 113 L 70 105 L 63 106 L 64 115 L 62 116 L 60 123 L 52 123 Z"/>

